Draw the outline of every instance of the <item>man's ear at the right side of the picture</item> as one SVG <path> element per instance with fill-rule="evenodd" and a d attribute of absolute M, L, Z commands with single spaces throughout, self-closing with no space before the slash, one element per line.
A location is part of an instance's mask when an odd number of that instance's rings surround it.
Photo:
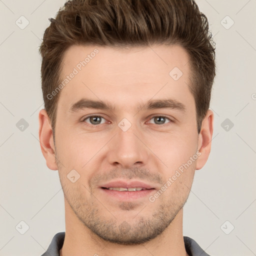
<path fill-rule="evenodd" d="M 213 132 L 213 112 L 208 109 L 204 119 L 202 120 L 201 130 L 198 136 L 198 151 L 201 153 L 196 161 L 196 169 L 200 169 L 206 163 L 211 147 L 211 139 Z"/>

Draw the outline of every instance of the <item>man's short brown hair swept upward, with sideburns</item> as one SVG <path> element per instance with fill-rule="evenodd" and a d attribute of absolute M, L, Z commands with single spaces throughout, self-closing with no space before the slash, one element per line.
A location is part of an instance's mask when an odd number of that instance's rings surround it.
<path fill-rule="evenodd" d="M 40 45 L 44 107 L 53 129 L 63 53 L 71 45 L 113 47 L 178 44 L 189 54 L 197 131 L 209 108 L 215 48 L 206 16 L 194 0 L 69 0 L 50 18 Z"/>

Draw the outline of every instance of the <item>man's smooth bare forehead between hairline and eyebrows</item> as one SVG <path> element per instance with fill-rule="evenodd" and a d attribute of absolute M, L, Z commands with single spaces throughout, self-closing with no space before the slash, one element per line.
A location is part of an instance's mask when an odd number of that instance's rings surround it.
<path fill-rule="evenodd" d="M 59 104 L 67 108 L 86 97 L 128 107 L 167 94 L 185 102 L 191 99 L 188 62 L 178 45 L 72 45 L 62 59 Z"/>

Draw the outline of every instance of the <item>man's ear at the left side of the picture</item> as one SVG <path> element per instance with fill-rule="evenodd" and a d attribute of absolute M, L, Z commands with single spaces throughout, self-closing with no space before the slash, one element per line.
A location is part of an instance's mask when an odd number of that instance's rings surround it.
<path fill-rule="evenodd" d="M 42 154 L 46 160 L 46 165 L 48 168 L 51 170 L 57 170 L 57 164 L 55 160 L 55 147 L 49 116 L 45 109 L 41 109 L 38 117 L 39 141 Z"/>

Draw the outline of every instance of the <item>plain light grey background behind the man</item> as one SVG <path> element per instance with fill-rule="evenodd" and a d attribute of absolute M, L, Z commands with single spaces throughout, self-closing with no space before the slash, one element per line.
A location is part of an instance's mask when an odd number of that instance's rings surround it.
<path fill-rule="evenodd" d="M 0 255 L 41 255 L 65 228 L 58 173 L 38 142 L 38 46 L 64 2 L 0 0 Z M 216 42 L 214 131 L 184 206 L 183 234 L 210 255 L 256 255 L 256 0 L 196 2 Z"/>

